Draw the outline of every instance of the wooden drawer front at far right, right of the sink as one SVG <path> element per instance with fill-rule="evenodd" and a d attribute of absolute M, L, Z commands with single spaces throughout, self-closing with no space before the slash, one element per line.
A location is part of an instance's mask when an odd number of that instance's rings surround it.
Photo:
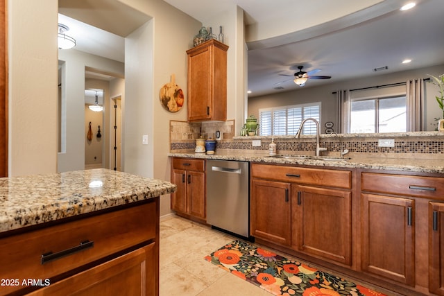
<path fill-rule="evenodd" d="M 362 173 L 361 191 L 444 199 L 444 178 Z"/>

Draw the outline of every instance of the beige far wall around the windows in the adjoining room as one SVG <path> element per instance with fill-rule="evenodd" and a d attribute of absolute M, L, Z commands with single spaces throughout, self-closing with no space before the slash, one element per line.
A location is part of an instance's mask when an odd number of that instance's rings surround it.
<path fill-rule="evenodd" d="M 427 78 L 429 77 L 427 74 L 439 76 L 442 73 L 444 73 L 444 65 L 386 74 L 372 78 L 361 78 L 348 80 L 346 82 L 331 83 L 320 87 L 307 87 L 310 83 L 307 82 L 305 87 L 301 87 L 293 92 L 280 92 L 278 94 L 248 98 L 248 114 L 259 116 L 260 108 L 298 105 L 320 101 L 322 108 L 321 125 L 327 121 L 332 121 L 334 123 L 334 127 L 337 128 L 338 119 L 336 117 L 336 96 L 332 94 L 332 92 L 336 92 L 338 89 L 357 89 L 361 87 L 372 87 L 375 85 L 404 82 L 415 78 Z M 314 83 L 316 83 L 316 81 Z M 379 91 L 382 91 L 382 89 L 379 89 Z M 385 92 L 390 91 L 390 89 L 385 89 Z M 427 116 L 426 128 L 427 130 L 434 130 L 434 124 L 436 124 L 434 117 L 442 116 L 441 110 L 438 108 L 434 98 L 438 92 L 438 88 L 435 85 L 426 82 L 425 91 L 427 96 L 427 102 L 425 105 L 425 113 Z"/>

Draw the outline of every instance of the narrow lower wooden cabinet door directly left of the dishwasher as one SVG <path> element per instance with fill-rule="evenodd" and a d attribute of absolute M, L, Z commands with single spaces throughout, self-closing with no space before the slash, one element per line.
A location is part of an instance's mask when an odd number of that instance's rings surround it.
<path fill-rule="evenodd" d="M 187 171 L 187 212 L 205 218 L 205 173 Z"/>

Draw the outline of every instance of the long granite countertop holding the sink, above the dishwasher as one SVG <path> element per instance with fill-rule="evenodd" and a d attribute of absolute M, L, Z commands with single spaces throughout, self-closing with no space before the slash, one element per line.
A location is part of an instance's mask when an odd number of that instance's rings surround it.
<path fill-rule="evenodd" d="M 444 173 L 444 159 L 405 158 L 402 155 L 387 157 L 386 155 L 354 155 L 350 159 L 282 159 L 269 157 L 267 154 L 250 152 L 217 151 L 214 155 L 205 153 L 169 153 L 170 157 L 189 157 L 200 159 L 223 159 L 243 162 L 262 162 L 268 164 L 300 164 L 306 166 L 330 166 L 338 168 L 369 168 L 389 171 L 404 171 L 418 173 Z M 347 155 L 348 156 L 348 155 Z"/>

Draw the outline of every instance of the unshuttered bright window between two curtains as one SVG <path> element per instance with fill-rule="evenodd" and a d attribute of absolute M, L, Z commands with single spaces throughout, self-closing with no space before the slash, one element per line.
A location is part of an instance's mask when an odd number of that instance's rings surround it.
<path fill-rule="evenodd" d="M 406 111 L 405 96 L 355 99 L 351 103 L 350 132 L 405 132 Z"/>

